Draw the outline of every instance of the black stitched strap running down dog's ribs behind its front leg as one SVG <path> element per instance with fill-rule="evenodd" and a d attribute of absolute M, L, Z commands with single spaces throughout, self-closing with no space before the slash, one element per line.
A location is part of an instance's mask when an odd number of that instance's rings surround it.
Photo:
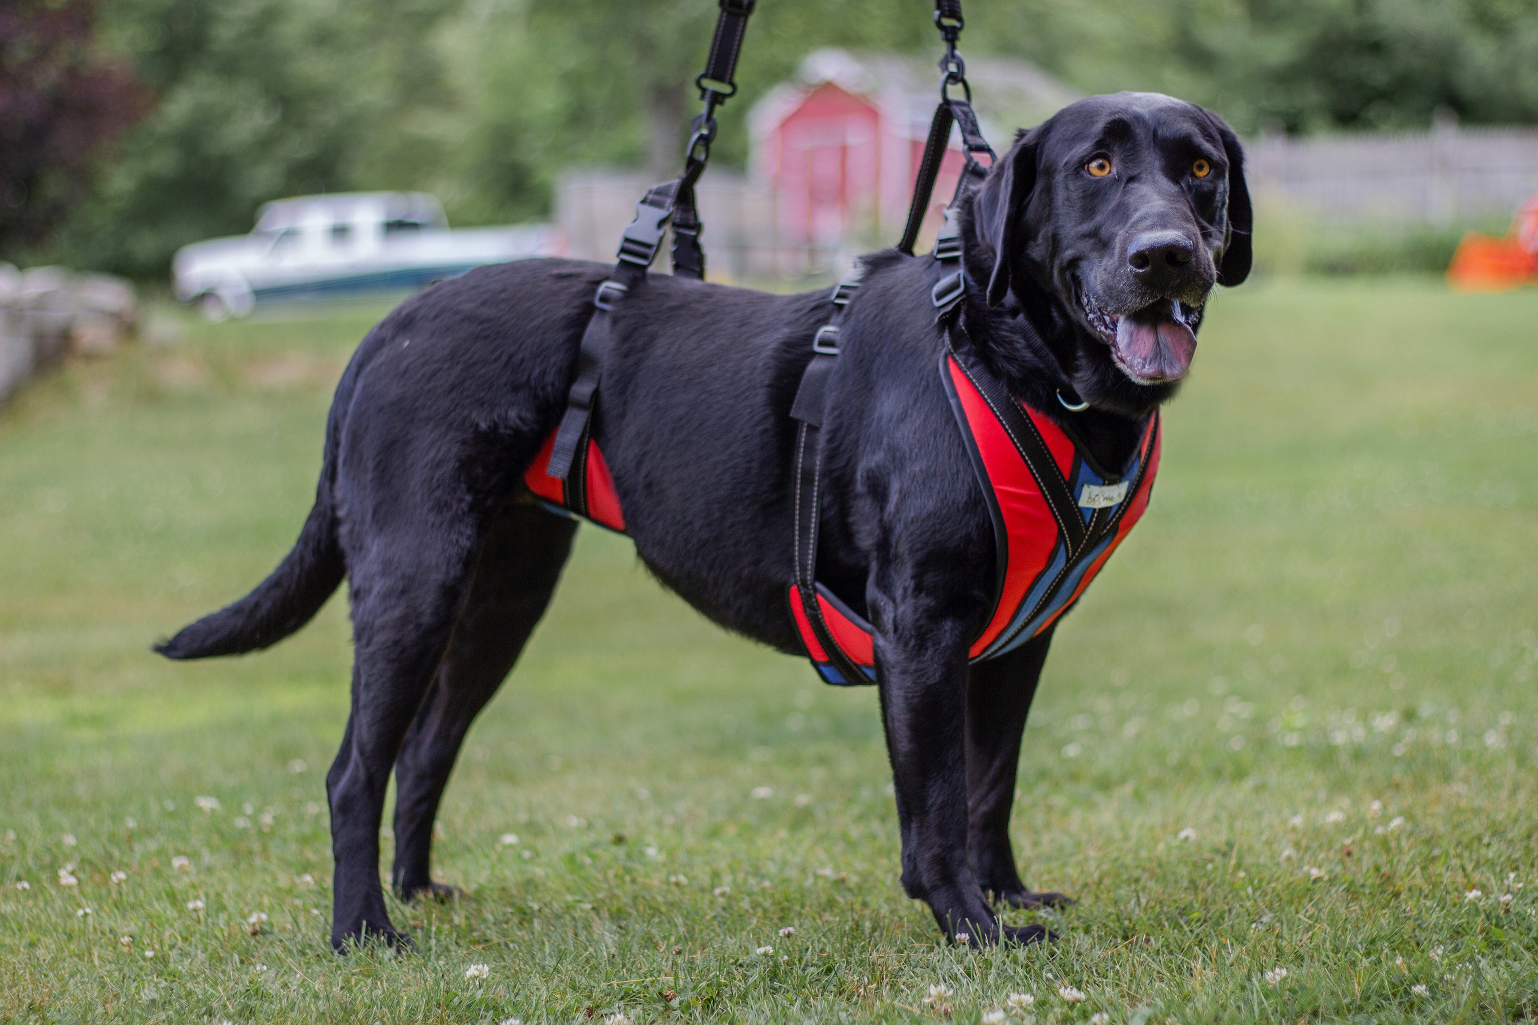
<path fill-rule="evenodd" d="M 871 678 L 851 661 L 834 639 L 823 607 L 817 601 L 817 527 L 821 509 L 823 475 L 823 416 L 827 410 L 827 380 L 838 366 L 838 329 L 844 309 L 860 287 L 864 267 L 855 264 L 834 289 L 834 317 L 817 329 L 812 338 L 812 360 L 801 373 L 801 386 L 795 390 L 791 416 L 797 421 L 795 432 L 795 590 L 801 612 L 846 684 L 867 684 Z"/>

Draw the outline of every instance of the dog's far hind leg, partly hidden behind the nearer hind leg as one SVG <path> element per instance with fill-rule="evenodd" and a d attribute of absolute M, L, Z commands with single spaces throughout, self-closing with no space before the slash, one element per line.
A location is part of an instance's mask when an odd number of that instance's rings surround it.
<path fill-rule="evenodd" d="M 475 561 L 449 649 L 395 758 L 395 867 L 403 899 L 449 894 L 432 882 L 432 822 L 471 721 L 497 693 L 544 615 L 577 522 L 528 501 L 508 503 Z"/>

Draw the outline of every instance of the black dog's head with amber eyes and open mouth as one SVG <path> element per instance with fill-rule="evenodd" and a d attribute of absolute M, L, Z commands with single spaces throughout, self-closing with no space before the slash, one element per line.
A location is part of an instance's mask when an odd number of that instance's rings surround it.
<path fill-rule="evenodd" d="M 1215 114 L 1152 92 L 1080 100 L 1021 132 L 969 214 L 987 304 L 1058 324 L 1054 355 L 1107 409 L 1169 398 L 1212 286 L 1250 269 L 1238 140 Z"/>

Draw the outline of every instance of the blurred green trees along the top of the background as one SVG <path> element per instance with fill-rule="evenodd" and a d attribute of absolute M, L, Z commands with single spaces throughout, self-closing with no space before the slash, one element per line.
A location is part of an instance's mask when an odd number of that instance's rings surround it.
<path fill-rule="evenodd" d="M 49 12 L 88 15 L 77 52 L 128 69 L 149 101 L 98 134 L 69 215 L 12 218 L 0 257 L 138 278 L 163 277 L 183 243 L 248 231 L 280 195 L 424 189 L 457 224 L 503 223 L 544 215 L 568 166 L 671 172 L 715 18 L 711 0 L 8 6 L 23 41 Z M 1084 92 L 1172 92 L 1244 134 L 1424 128 L 1440 106 L 1464 123 L 1538 121 L 1538 0 L 967 0 L 966 12 L 966 52 L 1030 58 Z M 746 158 L 747 109 L 806 52 L 937 49 L 929 14 L 929 0 L 763 0 L 717 160 Z M 0 184 L 6 203 L 26 192 Z"/>

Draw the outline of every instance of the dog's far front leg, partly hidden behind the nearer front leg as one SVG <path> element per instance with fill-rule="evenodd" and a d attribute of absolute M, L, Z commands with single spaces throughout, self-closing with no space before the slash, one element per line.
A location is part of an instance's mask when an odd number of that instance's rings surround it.
<path fill-rule="evenodd" d="M 1074 902 L 1061 893 L 1029 890 L 1009 842 L 1021 733 L 1050 644 L 1049 630 L 1009 655 L 978 662 L 966 692 L 967 856 L 983 891 L 1017 908 Z"/>

